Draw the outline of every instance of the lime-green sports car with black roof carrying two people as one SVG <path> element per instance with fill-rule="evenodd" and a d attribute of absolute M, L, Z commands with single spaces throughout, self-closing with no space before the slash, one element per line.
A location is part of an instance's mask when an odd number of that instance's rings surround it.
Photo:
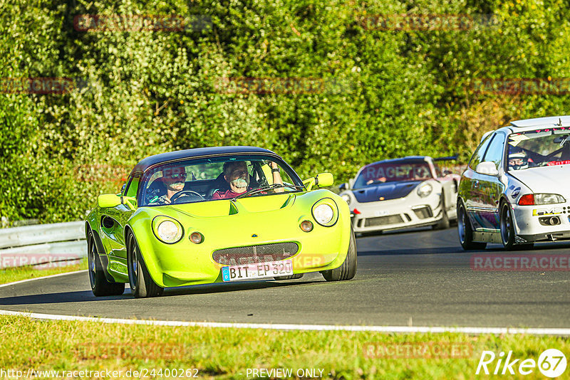
<path fill-rule="evenodd" d="M 120 194 L 103 194 L 86 220 L 95 296 L 161 295 L 165 287 L 320 272 L 356 274 L 356 241 L 346 201 L 301 181 L 277 154 L 211 147 L 142 159 Z"/>

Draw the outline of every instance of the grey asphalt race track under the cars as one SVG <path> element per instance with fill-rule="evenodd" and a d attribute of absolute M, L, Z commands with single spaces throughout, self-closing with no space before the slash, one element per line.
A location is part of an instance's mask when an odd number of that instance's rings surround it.
<path fill-rule="evenodd" d="M 0 287 L 0 309 L 155 320 L 391 326 L 570 327 L 570 272 L 472 270 L 457 231 L 366 236 L 358 273 L 326 283 L 257 281 L 167 289 L 163 297 L 94 297 L 87 273 Z M 519 254 L 568 255 L 568 243 Z"/>

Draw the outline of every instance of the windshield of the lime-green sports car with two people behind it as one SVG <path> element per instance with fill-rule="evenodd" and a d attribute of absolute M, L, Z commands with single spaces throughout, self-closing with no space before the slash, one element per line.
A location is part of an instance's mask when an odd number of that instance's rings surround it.
<path fill-rule="evenodd" d="M 232 155 L 152 167 L 143 174 L 139 198 L 142 206 L 161 206 L 269 196 L 302 188 L 299 176 L 279 159 Z"/>

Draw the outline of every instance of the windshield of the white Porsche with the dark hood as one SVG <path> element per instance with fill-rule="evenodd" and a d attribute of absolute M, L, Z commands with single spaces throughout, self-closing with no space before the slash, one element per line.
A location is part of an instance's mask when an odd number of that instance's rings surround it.
<path fill-rule="evenodd" d="M 358 174 L 353 187 L 360 189 L 383 182 L 420 181 L 432 178 L 430 173 L 430 167 L 425 161 L 370 164 Z"/>

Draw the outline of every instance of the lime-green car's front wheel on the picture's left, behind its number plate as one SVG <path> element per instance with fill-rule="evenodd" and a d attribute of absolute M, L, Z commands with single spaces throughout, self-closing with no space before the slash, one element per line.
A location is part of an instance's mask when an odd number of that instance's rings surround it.
<path fill-rule="evenodd" d="M 137 239 L 132 232 L 127 235 L 127 266 L 130 291 L 135 298 L 158 297 L 165 288 L 157 285 L 148 273 L 145 260 L 140 254 Z"/>

